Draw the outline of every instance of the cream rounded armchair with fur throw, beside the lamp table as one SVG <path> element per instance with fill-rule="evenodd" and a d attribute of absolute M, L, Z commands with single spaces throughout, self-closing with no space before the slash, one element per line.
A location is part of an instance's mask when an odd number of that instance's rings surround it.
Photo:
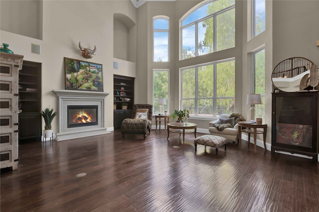
<path fill-rule="evenodd" d="M 237 115 L 241 116 L 241 114 L 238 114 L 238 113 L 232 113 L 231 115 L 229 115 L 229 114 L 221 114 L 220 118 L 230 118 L 230 116 L 235 117 Z M 237 118 L 235 117 L 234 118 L 234 123 L 235 123 L 234 127 L 233 128 L 227 127 L 227 128 L 224 128 L 221 131 L 219 131 L 214 126 L 215 124 L 220 124 L 220 119 L 219 118 L 217 120 L 210 121 L 209 122 L 209 128 L 208 128 L 209 133 L 212 134 L 212 135 L 217 135 L 217 136 L 224 137 L 227 140 L 232 141 L 233 143 L 235 143 L 236 141 L 238 142 L 238 124 L 237 124 L 237 122 L 240 121 L 240 120 L 245 120 L 245 119 L 242 116 L 241 117 L 237 117 Z"/>

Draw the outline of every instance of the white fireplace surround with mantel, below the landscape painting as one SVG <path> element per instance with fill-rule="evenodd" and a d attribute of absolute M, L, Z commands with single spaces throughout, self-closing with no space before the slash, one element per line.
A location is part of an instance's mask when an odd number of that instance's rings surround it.
<path fill-rule="evenodd" d="M 56 141 L 111 133 L 104 127 L 105 98 L 109 93 L 77 90 L 53 90 L 53 93 L 58 97 Z M 92 114 L 79 113 L 75 117 L 77 122 L 70 121 L 73 119 L 69 116 L 70 112 L 76 113 L 83 109 Z"/>

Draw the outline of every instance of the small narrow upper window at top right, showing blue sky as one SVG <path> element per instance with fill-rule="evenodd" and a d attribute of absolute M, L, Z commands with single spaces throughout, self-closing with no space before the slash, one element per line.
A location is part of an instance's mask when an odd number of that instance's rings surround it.
<path fill-rule="evenodd" d="M 265 31 L 265 17 L 266 17 L 265 0 L 252 0 L 252 36 L 256 37 Z"/>

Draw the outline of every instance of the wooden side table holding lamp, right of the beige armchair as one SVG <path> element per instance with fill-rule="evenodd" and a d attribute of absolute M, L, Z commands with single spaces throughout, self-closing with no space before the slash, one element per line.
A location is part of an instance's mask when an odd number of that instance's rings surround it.
<path fill-rule="evenodd" d="M 245 129 L 242 129 L 242 127 L 246 127 Z M 253 129 L 250 129 L 253 128 Z M 257 128 L 263 128 L 263 131 L 257 130 Z M 265 150 L 266 148 L 266 135 L 267 135 L 267 124 L 258 124 L 255 122 L 250 122 L 250 121 L 239 121 L 238 122 L 238 148 L 241 143 L 241 132 L 246 132 L 248 133 L 248 146 L 250 144 L 250 133 L 254 133 L 254 145 L 255 145 L 255 153 L 256 153 L 256 139 L 257 139 L 257 134 L 263 134 L 264 137 L 264 147 Z"/>

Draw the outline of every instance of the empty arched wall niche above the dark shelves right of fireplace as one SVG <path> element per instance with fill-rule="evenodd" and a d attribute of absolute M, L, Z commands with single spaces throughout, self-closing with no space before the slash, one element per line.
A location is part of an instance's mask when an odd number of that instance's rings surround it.
<path fill-rule="evenodd" d="M 113 57 L 136 62 L 136 23 L 122 13 L 114 13 Z"/>

